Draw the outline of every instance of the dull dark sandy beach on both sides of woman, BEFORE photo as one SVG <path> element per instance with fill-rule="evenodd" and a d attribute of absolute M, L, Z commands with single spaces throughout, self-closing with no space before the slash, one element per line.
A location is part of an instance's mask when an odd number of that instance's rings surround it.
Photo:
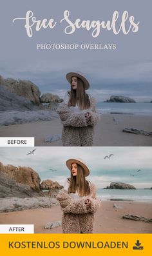
<path fill-rule="evenodd" d="M 152 136 L 122 132 L 123 128 L 137 128 L 151 132 L 152 118 L 131 114 L 101 115 L 99 123 L 95 126 L 93 146 L 152 146 Z M 60 119 L 14 124 L 0 128 L 0 137 L 35 137 L 35 146 L 62 146 L 61 139 L 52 143 L 44 142 L 46 137 L 61 133 Z"/>

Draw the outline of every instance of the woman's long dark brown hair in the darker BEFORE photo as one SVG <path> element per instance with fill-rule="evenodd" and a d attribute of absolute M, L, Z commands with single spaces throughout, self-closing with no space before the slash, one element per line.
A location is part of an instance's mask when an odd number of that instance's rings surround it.
<path fill-rule="evenodd" d="M 90 99 L 86 94 L 83 81 L 77 77 L 77 90 L 73 90 L 71 86 L 70 99 L 68 106 L 79 106 L 81 110 L 90 108 Z"/>

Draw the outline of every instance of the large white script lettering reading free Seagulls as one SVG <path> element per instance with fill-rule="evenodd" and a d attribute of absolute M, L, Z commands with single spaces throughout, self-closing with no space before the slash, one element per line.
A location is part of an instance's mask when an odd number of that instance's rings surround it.
<path fill-rule="evenodd" d="M 102 30 L 111 30 L 115 35 L 118 35 L 120 32 L 124 35 L 128 35 L 129 32 L 137 33 L 140 23 L 139 21 L 135 21 L 135 17 L 133 15 L 130 16 L 126 10 L 124 10 L 122 14 L 119 14 L 119 11 L 115 10 L 108 21 L 90 21 L 89 19 L 81 20 L 79 18 L 75 19 L 75 21 L 71 21 L 71 19 L 72 17 L 69 10 L 64 11 L 63 18 L 60 21 L 55 21 L 53 18 L 37 19 L 32 10 L 28 10 L 25 17 L 16 17 L 13 19 L 13 23 L 17 20 L 23 20 L 25 22 L 24 28 L 26 28 L 28 37 L 33 36 L 34 30 L 38 32 L 41 29 L 53 29 L 58 23 L 64 23 L 66 25 L 64 28 L 64 33 L 66 35 L 73 34 L 80 28 L 91 31 L 92 37 L 98 37 Z"/>

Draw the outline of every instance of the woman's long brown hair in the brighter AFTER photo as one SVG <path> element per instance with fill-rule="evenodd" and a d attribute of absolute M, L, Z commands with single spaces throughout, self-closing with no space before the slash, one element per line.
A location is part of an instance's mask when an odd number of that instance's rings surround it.
<path fill-rule="evenodd" d="M 75 193 L 77 191 L 81 197 L 90 195 L 90 185 L 89 182 L 86 181 L 84 169 L 81 165 L 77 164 L 77 176 L 73 176 L 71 173 L 71 178 L 68 180 L 70 181 L 68 193 Z"/>

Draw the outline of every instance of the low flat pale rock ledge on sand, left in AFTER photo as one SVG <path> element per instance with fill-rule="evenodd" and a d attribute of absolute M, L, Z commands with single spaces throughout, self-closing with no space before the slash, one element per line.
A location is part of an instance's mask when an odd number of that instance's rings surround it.
<path fill-rule="evenodd" d="M 27 197 L 27 198 L 0 198 L 0 212 L 23 211 L 35 208 L 49 208 L 57 206 L 57 199 L 50 197 Z"/>

